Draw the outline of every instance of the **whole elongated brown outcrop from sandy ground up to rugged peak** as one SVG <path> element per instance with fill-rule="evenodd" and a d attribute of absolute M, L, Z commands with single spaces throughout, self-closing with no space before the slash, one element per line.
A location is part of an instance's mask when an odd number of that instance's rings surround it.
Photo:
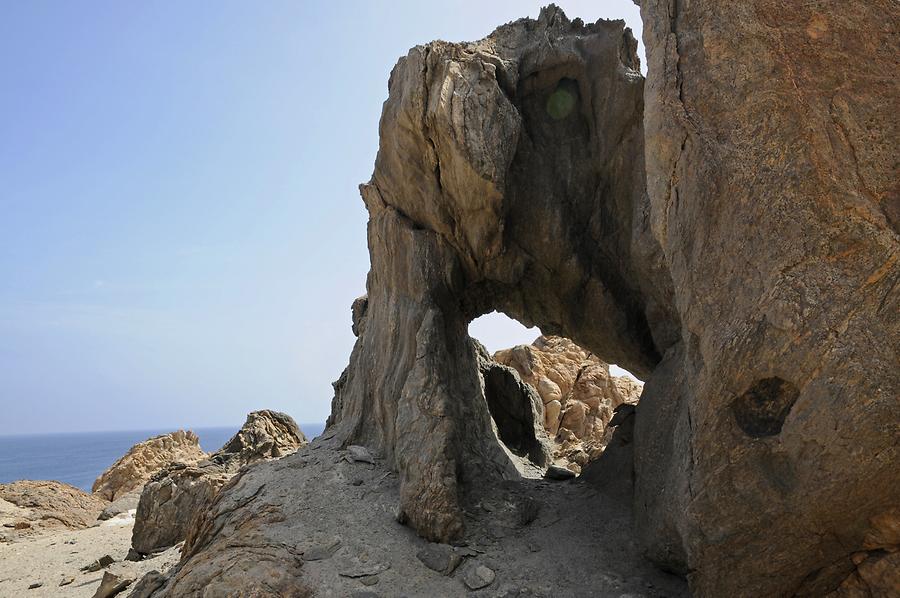
<path fill-rule="evenodd" d="M 132 548 L 145 555 L 185 539 L 191 521 L 242 467 L 275 459 L 306 445 L 290 416 L 254 411 L 225 445 L 195 465 L 177 463 L 157 472 L 144 486 L 135 513 Z"/>

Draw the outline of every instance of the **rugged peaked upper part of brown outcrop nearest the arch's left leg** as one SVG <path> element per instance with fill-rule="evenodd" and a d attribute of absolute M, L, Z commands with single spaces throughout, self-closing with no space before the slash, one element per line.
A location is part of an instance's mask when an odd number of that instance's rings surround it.
<path fill-rule="evenodd" d="M 209 456 L 209 461 L 235 472 L 262 459 L 277 459 L 306 445 L 306 436 L 287 414 L 253 411 L 237 434 Z"/>

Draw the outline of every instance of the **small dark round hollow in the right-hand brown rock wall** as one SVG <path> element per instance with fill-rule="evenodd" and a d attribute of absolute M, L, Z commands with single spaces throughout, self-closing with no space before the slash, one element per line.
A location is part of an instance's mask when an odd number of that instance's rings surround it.
<path fill-rule="evenodd" d="M 738 427 L 752 438 L 775 436 L 800 395 L 796 386 L 778 377 L 755 382 L 731 404 Z"/>

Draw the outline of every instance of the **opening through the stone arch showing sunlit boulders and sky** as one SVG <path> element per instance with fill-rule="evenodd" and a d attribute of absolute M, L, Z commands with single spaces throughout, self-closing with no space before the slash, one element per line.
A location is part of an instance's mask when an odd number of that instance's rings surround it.
<path fill-rule="evenodd" d="M 549 460 L 580 473 L 610 442 L 614 415 L 633 409 L 643 391 L 630 372 L 572 340 L 497 312 L 473 320 L 469 335 L 493 359 L 481 375 L 500 441 L 538 465 Z"/>

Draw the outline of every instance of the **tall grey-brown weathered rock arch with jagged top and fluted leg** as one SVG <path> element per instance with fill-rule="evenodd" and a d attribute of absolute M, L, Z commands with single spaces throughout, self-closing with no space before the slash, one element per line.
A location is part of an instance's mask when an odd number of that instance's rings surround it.
<path fill-rule="evenodd" d="M 401 472 L 424 536 L 462 533 L 475 475 L 517 476 L 491 425 L 469 322 L 498 310 L 648 374 L 674 342 L 649 234 L 643 78 L 622 22 L 546 9 L 391 74 L 369 210 L 372 269 L 330 425 Z"/>

